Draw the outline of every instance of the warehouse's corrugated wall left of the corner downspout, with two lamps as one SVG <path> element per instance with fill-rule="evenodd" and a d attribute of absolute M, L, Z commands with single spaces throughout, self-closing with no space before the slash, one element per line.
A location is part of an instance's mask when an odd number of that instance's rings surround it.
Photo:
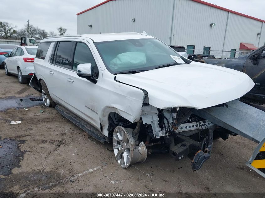
<path fill-rule="evenodd" d="M 119 33 L 146 31 L 169 41 L 173 0 L 110 1 L 77 16 L 77 33 Z M 135 22 L 132 22 L 135 18 Z M 88 27 L 91 24 L 92 28 Z"/>

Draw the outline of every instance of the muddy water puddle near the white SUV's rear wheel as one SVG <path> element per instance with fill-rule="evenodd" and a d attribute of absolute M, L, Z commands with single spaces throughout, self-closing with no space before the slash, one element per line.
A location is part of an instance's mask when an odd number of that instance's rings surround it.
<path fill-rule="evenodd" d="M 41 97 L 38 96 L 26 96 L 23 98 L 16 98 L 14 96 L 0 99 L 0 111 L 4 111 L 6 109 L 22 109 L 34 107 L 37 105 L 44 104 Z"/>

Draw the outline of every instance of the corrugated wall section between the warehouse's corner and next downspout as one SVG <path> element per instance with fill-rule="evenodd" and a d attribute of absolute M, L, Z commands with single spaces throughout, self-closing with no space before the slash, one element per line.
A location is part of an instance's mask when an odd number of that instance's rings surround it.
<path fill-rule="evenodd" d="M 190 0 L 176 1 L 172 44 L 222 49 L 227 12 Z M 211 23 L 216 23 L 211 27 Z"/>

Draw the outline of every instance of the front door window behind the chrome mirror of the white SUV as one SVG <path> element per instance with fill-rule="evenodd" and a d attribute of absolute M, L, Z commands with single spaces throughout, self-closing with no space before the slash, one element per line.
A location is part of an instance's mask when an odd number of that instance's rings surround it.
<path fill-rule="evenodd" d="M 85 43 L 77 42 L 74 53 L 73 70 L 76 71 L 77 65 L 84 63 L 92 64 L 92 67 L 94 69 L 94 76 L 98 78 L 98 67 L 90 49 L 87 47 Z"/>

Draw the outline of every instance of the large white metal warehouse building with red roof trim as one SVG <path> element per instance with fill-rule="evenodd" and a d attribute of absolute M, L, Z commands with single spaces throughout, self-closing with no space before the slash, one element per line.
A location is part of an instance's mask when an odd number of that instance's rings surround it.
<path fill-rule="evenodd" d="M 264 22 L 200 0 L 107 0 L 77 13 L 77 33 L 146 31 L 187 53 L 237 57 L 265 44 Z"/>

